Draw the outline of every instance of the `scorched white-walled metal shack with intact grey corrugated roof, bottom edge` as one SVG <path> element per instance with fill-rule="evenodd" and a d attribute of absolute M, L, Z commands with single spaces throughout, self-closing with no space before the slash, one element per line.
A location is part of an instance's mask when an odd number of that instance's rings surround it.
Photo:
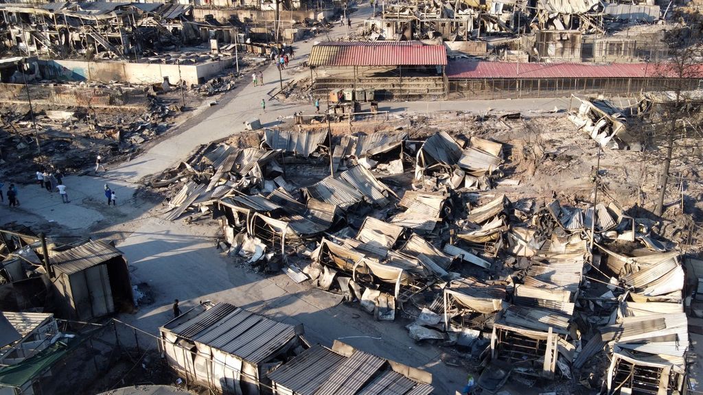
<path fill-rule="evenodd" d="M 160 330 L 168 364 L 188 383 L 222 394 L 258 395 L 266 372 L 309 348 L 302 325 L 228 303 L 200 304 Z"/>

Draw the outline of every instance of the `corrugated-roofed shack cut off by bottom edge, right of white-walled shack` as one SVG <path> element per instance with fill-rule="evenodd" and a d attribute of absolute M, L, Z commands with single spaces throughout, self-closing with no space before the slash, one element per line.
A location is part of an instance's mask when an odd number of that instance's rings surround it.
<path fill-rule="evenodd" d="M 335 340 L 316 345 L 268 374 L 275 395 L 429 395 L 432 375 Z"/>

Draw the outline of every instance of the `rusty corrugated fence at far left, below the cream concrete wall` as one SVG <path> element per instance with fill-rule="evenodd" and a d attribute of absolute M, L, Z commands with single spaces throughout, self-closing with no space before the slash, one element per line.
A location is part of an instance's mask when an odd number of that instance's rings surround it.
<path fill-rule="evenodd" d="M 29 89 L 29 96 L 27 96 Z M 0 84 L 0 102 L 63 105 L 67 107 L 143 108 L 148 105 L 141 89 L 89 88 L 71 85 Z"/>

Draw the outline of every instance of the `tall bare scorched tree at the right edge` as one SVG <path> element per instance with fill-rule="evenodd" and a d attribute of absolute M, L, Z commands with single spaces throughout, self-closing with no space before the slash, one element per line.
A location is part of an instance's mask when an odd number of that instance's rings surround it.
<path fill-rule="evenodd" d="M 695 91 L 703 75 L 703 46 L 684 45 L 678 34 L 667 37 L 669 60 L 654 67 L 654 82 L 661 90 L 649 93 L 650 108 L 646 121 L 650 123 L 652 150 L 643 153 L 645 160 L 662 165 L 661 189 L 654 214 L 664 213 L 666 186 L 673 160 L 682 160 L 695 152 L 693 137 L 701 135 L 700 91 Z M 698 143 L 699 144 L 699 143 Z"/>

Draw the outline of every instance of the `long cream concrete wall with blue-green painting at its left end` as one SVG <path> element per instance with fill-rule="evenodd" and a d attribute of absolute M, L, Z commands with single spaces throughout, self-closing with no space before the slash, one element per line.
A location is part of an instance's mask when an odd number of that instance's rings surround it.
<path fill-rule="evenodd" d="M 41 74 L 45 78 L 67 81 L 126 82 L 129 84 L 155 84 L 168 77 L 175 84 L 183 79 L 187 84 L 200 84 L 214 77 L 227 67 L 233 59 L 181 65 L 180 78 L 178 65 L 160 63 L 131 62 L 89 62 L 85 60 L 41 60 Z"/>

